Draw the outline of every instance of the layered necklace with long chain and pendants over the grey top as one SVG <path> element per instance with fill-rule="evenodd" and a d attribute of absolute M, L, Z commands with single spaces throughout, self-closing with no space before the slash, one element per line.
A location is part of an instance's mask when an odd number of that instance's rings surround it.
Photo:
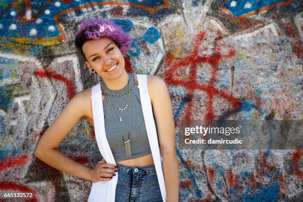
<path fill-rule="evenodd" d="M 124 142 L 124 146 L 125 146 L 125 152 L 126 152 L 126 157 L 130 157 L 132 155 L 132 152 L 131 152 L 131 147 L 130 147 L 130 87 L 131 87 L 131 84 L 130 84 L 130 76 L 128 77 L 128 80 L 129 80 L 129 90 L 128 90 L 128 103 L 126 104 L 126 106 L 124 108 L 119 108 L 119 111 L 126 111 L 126 109 L 128 109 L 128 137 L 127 139 L 124 139 L 124 136 L 122 134 L 122 130 L 120 128 L 120 125 L 119 125 L 119 122 L 117 120 L 117 116 L 116 116 L 116 113 L 115 113 L 115 110 L 114 110 L 114 101 L 111 101 L 110 99 L 110 94 L 107 92 L 107 89 L 105 87 L 105 84 L 103 84 L 103 89 L 105 90 L 105 93 L 107 95 L 107 98 L 108 98 L 108 101 L 109 101 L 109 106 L 111 107 L 111 110 L 114 114 L 114 119 L 116 120 L 117 122 L 117 125 L 118 125 L 118 128 L 119 128 L 119 132 L 120 132 L 120 135 L 122 137 L 122 140 Z M 128 107 L 128 108 L 127 108 Z M 122 116 L 119 116 L 120 118 L 120 121 L 122 121 Z"/>

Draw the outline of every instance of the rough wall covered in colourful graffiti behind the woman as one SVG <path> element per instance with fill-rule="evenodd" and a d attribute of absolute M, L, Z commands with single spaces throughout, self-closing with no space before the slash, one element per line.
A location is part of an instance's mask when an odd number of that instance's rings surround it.
<path fill-rule="evenodd" d="M 100 81 L 73 45 L 82 19 L 109 18 L 133 38 L 129 71 L 163 78 L 180 120 L 302 120 L 300 0 L 0 0 L 0 192 L 85 201 L 91 182 L 33 152 L 77 93 Z M 81 121 L 58 148 L 93 167 Z M 181 202 L 300 201 L 300 150 L 179 150 Z"/>

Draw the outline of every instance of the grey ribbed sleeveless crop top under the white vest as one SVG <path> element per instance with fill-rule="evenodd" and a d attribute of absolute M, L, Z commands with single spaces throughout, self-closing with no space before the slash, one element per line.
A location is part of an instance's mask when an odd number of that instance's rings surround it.
<path fill-rule="evenodd" d="M 119 108 L 124 109 L 129 99 L 129 84 L 121 90 L 110 90 L 106 88 L 101 82 L 101 89 L 104 92 L 104 125 L 105 125 L 105 135 L 107 142 L 113 154 L 115 161 L 127 160 L 132 158 L 137 158 L 151 153 L 151 148 L 149 144 L 149 139 L 145 127 L 145 121 L 142 111 L 142 105 L 140 100 L 139 88 L 135 84 L 135 78 L 133 74 L 130 76 L 130 104 L 126 110 L 119 110 Z M 106 94 L 106 91 L 110 95 L 110 103 Z M 109 105 L 111 104 L 111 105 Z M 112 109 L 113 106 L 113 109 Z M 129 130 L 129 110 L 130 109 L 130 143 L 131 152 L 130 157 L 126 157 L 125 145 L 121 137 L 123 135 L 124 140 L 128 138 Z M 112 110 L 115 110 L 114 113 Z M 120 121 L 121 117 L 121 121 Z M 117 122 L 120 126 L 117 126 Z M 155 122 L 155 121 L 154 121 Z"/>

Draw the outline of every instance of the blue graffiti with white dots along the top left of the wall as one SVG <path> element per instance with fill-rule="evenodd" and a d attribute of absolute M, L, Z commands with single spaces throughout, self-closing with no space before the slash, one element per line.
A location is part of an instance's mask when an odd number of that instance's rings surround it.
<path fill-rule="evenodd" d="M 122 0 L 114 1 L 117 5 L 123 3 L 132 3 L 131 5 L 144 6 L 147 11 L 157 10 L 157 6 L 166 2 L 163 0 L 141 1 L 141 0 Z M 26 3 L 16 3 L 12 0 L 1 1 L 0 4 L 0 37 L 14 39 L 44 40 L 60 36 L 58 15 L 64 15 L 69 12 L 81 13 L 79 6 L 87 5 L 102 7 L 102 3 L 108 1 L 100 0 L 73 0 L 70 3 L 62 1 L 39 1 L 31 0 Z M 130 4 L 129 4 L 130 5 Z M 26 8 L 27 7 L 27 8 Z M 18 9 L 17 9 L 18 8 Z M 27 10 L 26 10 L 27 9 Z"/>

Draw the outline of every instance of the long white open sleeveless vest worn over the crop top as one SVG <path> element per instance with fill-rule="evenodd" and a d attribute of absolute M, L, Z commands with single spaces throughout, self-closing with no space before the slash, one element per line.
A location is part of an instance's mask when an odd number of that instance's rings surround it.
<path fill-rule="evenodd" d="M 158 147 L 157 132 L 152 116 L 152 104 L 147 86 L 147 75 L 137 75 L 137 78 L 145 126 L 152 151 L 152 158 L 158 177 L 162 200 L 163 202 L 166 202 L 165 182 L 162 170 L 162 158 Z M 102 157 L 107 163 L 116 165 L 115 159 L 112 155 L 105 135 L 103 103 L 100 83 L 93 86 L 91 98 L 95 125 L 95 136 L 98 148 Z M 88 202 L 114 202 L 117 181 L 118 173 L 116 173 L 116 176 L 113 176 L 113 178 L 109 181 L 100 181 L 96 183 L 93 182 Z"/>

